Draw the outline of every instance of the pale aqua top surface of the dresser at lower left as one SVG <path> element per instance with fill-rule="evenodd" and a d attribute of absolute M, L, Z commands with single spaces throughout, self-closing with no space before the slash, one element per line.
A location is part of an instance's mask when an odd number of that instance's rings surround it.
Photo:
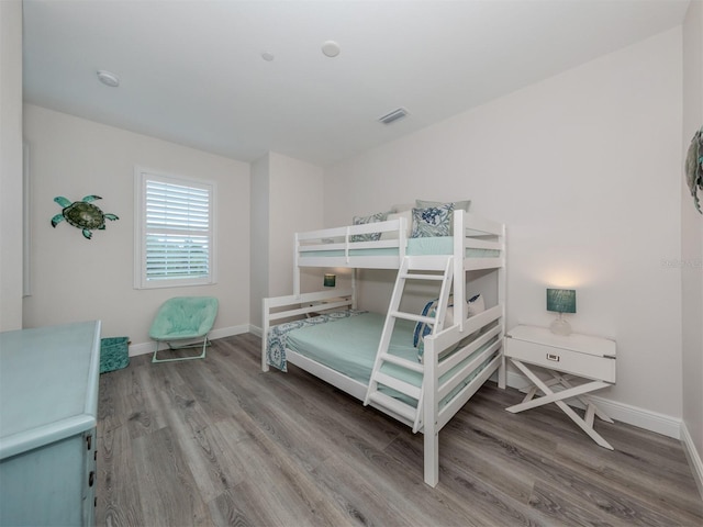
<path fill-rule="evenodd" d="M 0 333 L 0 459 L 96 426 L 100 322 Z"/>

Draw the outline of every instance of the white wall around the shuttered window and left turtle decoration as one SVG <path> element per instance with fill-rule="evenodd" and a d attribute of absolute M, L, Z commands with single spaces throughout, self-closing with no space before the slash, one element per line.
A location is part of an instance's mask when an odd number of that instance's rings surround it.
<path fill-rule="evenodd" d="M 102 319 L 103 336 L 148 341 L 157 307 L 178 295 L 220 300 L 215 329 L 248 327 L 249 166 L 165 141 L 25 105 L 32 178 L 33 295 L 24 325 Z M 134 167 L 213 180 L 217 184 L 217 269 L 213 285 L 133 289 Z M 75 201 L 98 194 L 104 212 L 120 216 L 92 239 L 63 222 L 54 198 Z"/>

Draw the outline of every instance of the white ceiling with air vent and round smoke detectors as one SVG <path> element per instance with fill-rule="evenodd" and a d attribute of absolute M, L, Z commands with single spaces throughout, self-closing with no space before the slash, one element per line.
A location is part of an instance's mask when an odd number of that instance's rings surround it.
<path fill-rule="evenodd" d="M 24 100 L 243 161 L 325 166 L 680 25 L 688 4 L 24 0 Z M 400 106 L 409 116 L 377 121 Z"/>

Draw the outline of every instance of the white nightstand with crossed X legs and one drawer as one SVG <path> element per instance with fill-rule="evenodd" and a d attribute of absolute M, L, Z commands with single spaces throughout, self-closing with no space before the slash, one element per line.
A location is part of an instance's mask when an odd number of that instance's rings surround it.
<path fill-rule="evenodd" d="M 587 393 L 615 383 L 614 340 L 577 334 L 561 336 L 545 327 L 517 326 L 505 336 L 504 354 L 533 382 L 523 402 L 505 410 L 517 413 L 555 403 L 595 442 L 613 450 L 593 429 L 593 416 L 609 423 L 613 423 L 613 419 L 596 407 Z M 542 380 L 527 365 L 544 368 L 551 379 Z M 574 378 L 587 382 L 573 384 L 570 381 Z M 550 386 L 555 385 L 561 385 L 563 390 L 554 392 Z M 538 390 L 544 395 L 535 399 Z M 585 405 L 584 418 L 563 402 L 570 397 L 577 397 Z"/>

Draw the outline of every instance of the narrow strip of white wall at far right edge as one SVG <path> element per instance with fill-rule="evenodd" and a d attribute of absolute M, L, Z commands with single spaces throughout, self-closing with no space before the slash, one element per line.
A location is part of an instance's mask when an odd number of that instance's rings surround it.
<path fill-rule="evenodd" d="M 691 2 L 683 24 L 683 146 L 703 126 L 703 2 Z M 682 183 L 681 267 L 683 422 L 698 453 L 703 493 L 703 215 Z M 703 195 L 699 194 L 703 199 Z"/>

